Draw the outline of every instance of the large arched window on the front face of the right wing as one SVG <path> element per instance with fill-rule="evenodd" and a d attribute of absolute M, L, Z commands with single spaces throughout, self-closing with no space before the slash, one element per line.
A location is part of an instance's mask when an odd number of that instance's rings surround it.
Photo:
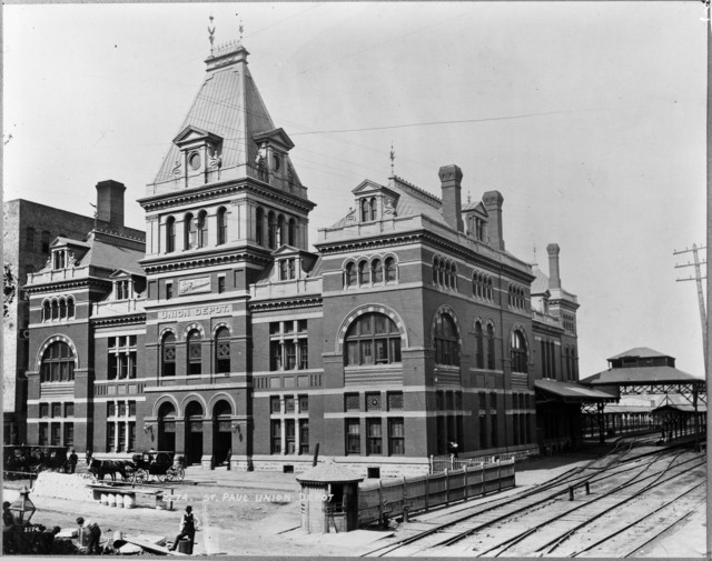
<path fill-rule="evenodd" d="M 344 340 L 344 364 L 393 364 L 400 362 L 400 331 L 383 313 L 365 313 L 348 328 Z"/>

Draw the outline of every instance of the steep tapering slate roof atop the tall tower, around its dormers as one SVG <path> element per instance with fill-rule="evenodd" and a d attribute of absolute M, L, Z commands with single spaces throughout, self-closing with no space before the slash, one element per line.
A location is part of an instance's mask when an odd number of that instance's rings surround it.
<path fill-rule="evenodd" d="M 195 127 L 221 137 L 222 169 L 245 167 L 245 174 L 256 178 L 253 163 L 258 146 L 253 137 L 273 131 L 275 124 L 247 68 L 247 50 L 241 46 L 226 50 L 236 52 L 236 60 L 226 66 L 214 62 L 220 54 L 206 60 L 208 76 L 178 130 Z M 172 169 L 180 159 L 178 146 L 171 143 L 155 182 L 172 180 Z"/>

